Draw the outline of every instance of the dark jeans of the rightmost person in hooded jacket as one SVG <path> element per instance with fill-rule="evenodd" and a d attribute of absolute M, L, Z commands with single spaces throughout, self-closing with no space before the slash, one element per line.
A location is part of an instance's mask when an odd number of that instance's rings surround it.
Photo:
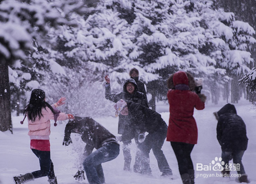
<path fill-rule="evenodd" d="M 245 150 L 237 150 L 237 151 L 222 151 L 221 157 L 224 161 L 225 165 L 228 164 L 229 160 L 233 157 L 233 163 L 234 164 L 240 164 L 240 170 L 238 169 L 238 174 L 245 174 L 244 166 L 242 164 L 242 157 Z"/>

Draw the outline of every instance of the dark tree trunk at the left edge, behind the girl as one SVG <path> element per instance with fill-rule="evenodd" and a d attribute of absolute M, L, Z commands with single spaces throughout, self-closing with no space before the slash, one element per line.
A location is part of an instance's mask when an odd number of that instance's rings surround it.
<path fill-rule="evenodd" d="M 6 61 L 0 62 L 0 131 L 12 132 L 9 70 Z"/>

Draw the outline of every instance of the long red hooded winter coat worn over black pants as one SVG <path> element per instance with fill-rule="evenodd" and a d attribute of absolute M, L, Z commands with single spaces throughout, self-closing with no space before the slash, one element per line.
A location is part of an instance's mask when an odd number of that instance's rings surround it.
<path fill-rule="evenodd" d="M 173 84 L 176 89 L 169 89 L 167 93 L 170 111 L 167 141 L 197 144 L 198 130 L 193 117 L 194 107 L 202 110 L 204 102 L 189 90 L 185 72 L 176 72 L 173 75 Z"/>

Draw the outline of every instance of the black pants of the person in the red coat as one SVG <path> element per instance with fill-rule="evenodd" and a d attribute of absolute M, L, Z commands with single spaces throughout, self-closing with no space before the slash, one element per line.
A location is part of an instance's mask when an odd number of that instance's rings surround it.
<path fill-rule="evenodd" d="M 188 173 L 189 169 L 194 169 L 190 154 L 195 145 L 181 142 L 170 142 L 170 145 L 176 155 L 180 175 Z"/>

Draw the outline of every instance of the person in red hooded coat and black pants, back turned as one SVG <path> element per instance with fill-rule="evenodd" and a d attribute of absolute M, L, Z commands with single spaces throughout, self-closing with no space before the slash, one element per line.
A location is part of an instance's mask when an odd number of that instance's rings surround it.
<path fill-rule="evenodd" d="M 167 86 L 170 117 L 166 140 L 173 147 L 183 184 L 193 184 L 195 171 L 190 154 L 198 139 L 193 114 L 194 108 L 204 109 L 206 97 L 201 94 L 202 86 L 196 87 L 194 78 L 183 71 L 171 75 Z"/>

